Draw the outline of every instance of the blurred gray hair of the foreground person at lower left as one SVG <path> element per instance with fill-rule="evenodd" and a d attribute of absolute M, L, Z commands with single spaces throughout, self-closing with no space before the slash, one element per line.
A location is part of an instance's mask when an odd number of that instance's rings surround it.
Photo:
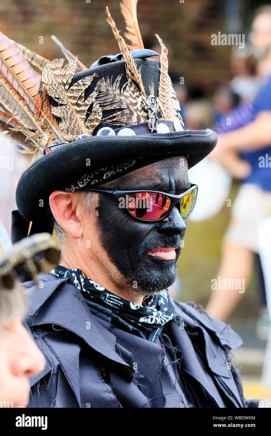
<path fill-rule="evenodd" d="M 26 289 L 23 286 L 15 286 L 11 290 L 0 287 L 0 331 L 9 324 L 13 318 L 23 320 L 26 304 Z"/>

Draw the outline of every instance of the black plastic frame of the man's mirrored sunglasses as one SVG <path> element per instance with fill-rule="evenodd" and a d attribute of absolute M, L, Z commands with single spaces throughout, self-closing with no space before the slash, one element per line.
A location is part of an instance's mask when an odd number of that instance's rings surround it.
<path fill-rule="evenodd" d="M 182 199 L 185 197 L 186 194 L 188 194 L 190 191 L 192 191 L 195 188 L 197 190 L 198 186 L 197 185 L 192 185 L 189 189 L 187 189 L 187 191 L 184 191 L 184 192 L 182 192 L 179 195 L 167 194 L 167 192 L 163 192 L 163 191 L 154 191 L 154 190 L 151 190 L 149 188 L 146 188 L 146 189 L 137 189 L 137 190 L 131 190 L 131 191 L 128 191 L 128 190 L 125 190 L 125 191 L 121 190 L 120 191 L 120 190 L 117 190 L 117 189 L 92 189 L 92 188 L 84 188 L 84 191 L 97 192 L 99 194 L 105 194 L 105 195 L 108 195 L 110 197 L 113 196 L 117 201 L 120 201 L 121 197 L 124 197 L 124 196 L 129 195 L 129 194 L 136 194 L 138 192 L 154 192 L 155 194 L 164 194 L 164 195 L 167 195 L 167 197 L 171 201 L 171 204 L 170 204 L 170 206 L 168 208 L 167 213 L 162 218 L 159 218 L 159 219 L 154 219 L 154 220 L 148 219 L 147 220 L 147 219 L 143 219 L 143 218 L 138 218 L 138 217 L 134 216 L 129 211 L 129 209 L 127 207 L 125 207 L 125 211 L 129 215 L 129 217 L 132 217 L 132 218 L 136 219 L 137 221 L 142 221 L 142 222 L 145 222 L 145 223 L 147 223 L 147 222 L 155 223 L 155 222 L 164 221 L 164 219 L 166 219 L 171 214 L 172 209 L 177 204 L 178 204 L 179 213 L 181 215 L 181 201 L 182 201 Z M 187 217 L 185 217 L 185 218 L 182 217 L 183 219 L 187 219 L 187 218 L 189 218 L 191 216 L 191 214 L 192 214 L 192 212 L 194 210 L 196 201 L 197 201 L 197 191 L 196 191 L 196 198 L 195 198 L 195 201 L 194 201 L 193 208 L 192 208 L 190 214 L 187 215 Z M 126 201 L 125 201 L 125 204 L 126 204 Z"/>

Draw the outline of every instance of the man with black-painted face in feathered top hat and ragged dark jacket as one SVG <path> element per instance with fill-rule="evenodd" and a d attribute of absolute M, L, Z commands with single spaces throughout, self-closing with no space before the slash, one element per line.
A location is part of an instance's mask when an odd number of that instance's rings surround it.
<path fill-rule="evenodd" d="M 238 335 L 167 291 L 197 197 L 187 170 L 217 137 L 184 130 L 158 35 L 161 63 L 143 44 L 128 51 L 107 15 L 120 54 L 70 79 L 70 65 L 44 68 L 57 133 L 70 142 L 47 146 L 17 187 L 13 240 L 29 221 L 29 234 L 54 223 L 61 246 L 56 269 L 25 283 L 27 324 L 47 359 L 29 407 L 257 407 L 230 361 Z M 79 136 L 59 100 L 63 75 L 66 96 L 77 84 L 74 112 L 83 90 L 88 102 Z"/>

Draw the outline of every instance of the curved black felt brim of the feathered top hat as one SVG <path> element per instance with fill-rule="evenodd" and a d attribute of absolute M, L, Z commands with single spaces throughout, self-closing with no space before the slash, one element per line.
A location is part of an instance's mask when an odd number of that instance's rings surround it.
<path fill-rule="evenodd" d="M 153 162 L 174 156 L 187 156 L 188 168 L 204 159 L 215 147 L 217 135 L 210 129 L 182 130 L 134 136 L 90 136 L 67 143 L 40 157 L 22 174 L 17 185 L 16 202 L 24 218 L 33 221 L 44 217 L 50 194 L 65 191 L 84 174 L 95 174 L 95 186 Z M 120 171 L 108 170 L 122 166 Z M 107 169 L 107 177 L 104 172 Z M 94 179 L 93 179 L 94 180 Z M 90 181 L 86 184 L 89 188 Z M 95 187 L 94 186 L 94 187 Z"/>

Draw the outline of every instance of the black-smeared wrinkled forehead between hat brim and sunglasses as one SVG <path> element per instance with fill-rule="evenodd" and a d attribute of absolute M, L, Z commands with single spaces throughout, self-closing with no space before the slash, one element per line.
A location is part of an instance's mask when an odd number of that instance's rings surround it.
<path fill-rule="evenodd" d="M 169 179 L 175 182 L 184 182 L 187 177 L 187 158 L 184 156 L 171 157 L 169 159 L 155 162 L 143 168 L 138 168 L 131 173 L 124 174 L 122 177 L 105 184 L 105 187 L 116 187 L 118 189 L 126 189 L 136 184 L 144 184 L 148 186 L 155 183 L 166 183 Z"/>

